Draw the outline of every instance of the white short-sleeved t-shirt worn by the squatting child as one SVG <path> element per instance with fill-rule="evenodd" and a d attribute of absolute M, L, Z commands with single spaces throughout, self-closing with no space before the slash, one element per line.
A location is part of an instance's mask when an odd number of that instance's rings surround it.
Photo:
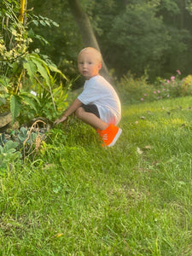
<path fill-rule="evenodd" d="M 108 125 L 117 125 L 121 119 L 121 105 L 119 96 L 102 76 L 97 75 L 84 83 L 84 90 L 78 96 L 80 102 L 95 104 L 100 118 Z"/>

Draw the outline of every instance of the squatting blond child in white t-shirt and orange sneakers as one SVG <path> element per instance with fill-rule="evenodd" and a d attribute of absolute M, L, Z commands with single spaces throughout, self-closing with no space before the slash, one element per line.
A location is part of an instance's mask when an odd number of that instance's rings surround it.
<path fill-rule="evenodd" d="M 121 134 L 116 125 L 121 118 L 119 97 L 113 86 L 100 76 L 102 55 L 94 48 L 87 47 L 78 56 L 79 73 L 86 79 L 83 92 L 67 108 L 55 125 L 65 121 L 69 115 L 75 115 L 96 129 L 102 137 L 103 146 L 111 147 Z"/>

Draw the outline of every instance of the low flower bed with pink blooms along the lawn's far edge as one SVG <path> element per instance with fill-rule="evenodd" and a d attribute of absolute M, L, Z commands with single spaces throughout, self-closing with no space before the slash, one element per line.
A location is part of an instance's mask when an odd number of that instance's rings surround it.
<path fill-rule="evenodd" d="M 117 84 L 122 102 L 152 102 L 191 95 L 191 76 L 182 79 L 180 70 L 176 72 L 170 79 L 157 78 L 154 84 L 148 82 L 147 73 L 139 79 L 128 73 Z"/>

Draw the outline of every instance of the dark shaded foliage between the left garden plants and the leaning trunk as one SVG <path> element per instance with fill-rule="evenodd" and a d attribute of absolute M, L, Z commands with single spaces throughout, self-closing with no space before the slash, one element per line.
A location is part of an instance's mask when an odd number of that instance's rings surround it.
<path fill-rule="evenodd" d="M 47 1 L 44 8 L 44 2 L 32 0 L 28 6 L 30 9 L 34 8 L 36 14 L 47 16 L 59 24 L 57 27 L 49 26 L 46 30 L 43 26 L 32 26 L 35 33 L 40 33 L 49 41 L 49 47 L 44 47 L 44 44 L 39 44 L 34 38 L 32 49 L 39 48 L 43 54 L 51 56 L 61 71 L 73 79 L 78 74 L 77 55 L 84 46 L 79 29 L 70 13 L 68 1 Z"/>

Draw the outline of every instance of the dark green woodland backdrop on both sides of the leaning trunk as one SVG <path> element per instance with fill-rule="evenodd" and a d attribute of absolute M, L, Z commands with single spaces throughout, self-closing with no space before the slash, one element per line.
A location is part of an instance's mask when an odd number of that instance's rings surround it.
<path fill-rule="evenodd" d="M 104 61 L 114 75 L 128 72 L 137 77 L 148 69 L 148 79 L 168 79 L 177 69 L 191 72 L 191 1 L 151 0 L 80 1 L 89 15 Z M 48 16 L 60 26 L 38 32 L 50 45 L 39 45 L 69 76 L 77 73 L 76 57 L 84 47 L 67 0 L 32 0 L 28 8 Z M 70 64 L 70 65 L 69 65 Z M 69 69 L 70 67 L 70 69 Z"/>

